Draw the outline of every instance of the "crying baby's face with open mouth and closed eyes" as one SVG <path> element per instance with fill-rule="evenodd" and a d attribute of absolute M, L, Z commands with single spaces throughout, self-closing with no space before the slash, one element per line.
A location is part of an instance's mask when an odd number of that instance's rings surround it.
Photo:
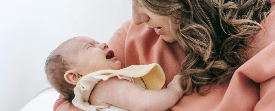
<path fill-rule="evenodd" d="M 84 75 L 98 70 L 119 70 L 121 62 L 114 49 L 89 37 L 77 37 L 68 46 L 73 67 Z M 71 55 L 71 56 L 70 56 Z"/>

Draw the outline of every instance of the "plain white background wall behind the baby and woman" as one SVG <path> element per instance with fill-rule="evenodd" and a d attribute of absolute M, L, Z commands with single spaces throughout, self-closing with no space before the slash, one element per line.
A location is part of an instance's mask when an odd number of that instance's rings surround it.
<path fill-rule="evenodd" d="M 45 60 L 63 41 L 106 42 L 131 16 L 131 0 L 0 0 L 0 110 L 18 111 L 49 87 Z"/>

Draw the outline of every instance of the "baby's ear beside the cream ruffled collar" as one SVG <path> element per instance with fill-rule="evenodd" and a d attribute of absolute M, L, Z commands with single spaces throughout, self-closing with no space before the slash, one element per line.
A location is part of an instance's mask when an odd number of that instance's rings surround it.
<path fill-rule="evenodd" d="M 76 70 L 68 70 L 64 74 L 65 80 L 73 85 L 76 85 L 77 82 L 82 78 L 82 75 L 79 74 Z"/>

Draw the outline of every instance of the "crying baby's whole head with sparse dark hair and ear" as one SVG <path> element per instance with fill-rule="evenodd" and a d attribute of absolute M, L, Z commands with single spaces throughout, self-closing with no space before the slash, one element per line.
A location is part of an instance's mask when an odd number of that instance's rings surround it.
<path fill-rule="evenodd" d="M 120 68 L 116 52 L 89 37 L 74 37 L 63 42 L 45 63 L 49 83 L 70 102 L 74 98 L 73 88 L 83 76 L 98 70 Z"/>

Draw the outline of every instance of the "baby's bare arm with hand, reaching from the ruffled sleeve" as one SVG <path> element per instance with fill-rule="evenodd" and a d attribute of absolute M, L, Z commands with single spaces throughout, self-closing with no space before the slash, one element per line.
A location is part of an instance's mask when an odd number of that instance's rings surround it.
<path fill-rule="evenodd" d="M 118 106 L 127 110 L 167 110 L 183 96 L 180 77 L 176 75 L 167 85 L 167 89 L 159 91 L 142 91 L 136 84 L 117 77 L 107 81 L 99 81 L 93 89 L 89 103 L 92 105 Z"/>

